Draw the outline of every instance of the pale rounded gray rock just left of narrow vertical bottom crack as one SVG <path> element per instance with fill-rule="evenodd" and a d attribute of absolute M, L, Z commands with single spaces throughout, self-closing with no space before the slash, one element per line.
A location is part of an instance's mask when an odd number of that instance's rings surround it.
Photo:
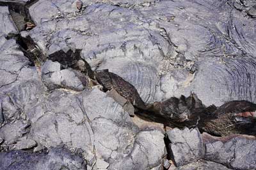
<path fill-rule="evenodd" d="M 161 169 L 166 155 L 164 134 L 156 128 L 142 131 L 136 136 L 132 152 L 108 169 Z M 156 155 L 162 155 L 156 157 Z"/>

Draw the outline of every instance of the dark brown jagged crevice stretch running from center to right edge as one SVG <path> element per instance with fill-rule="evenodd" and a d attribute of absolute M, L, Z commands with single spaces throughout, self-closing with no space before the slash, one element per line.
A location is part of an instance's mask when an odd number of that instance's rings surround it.
<path fill-rule="evenodd" d="M 256 104 L 231 101 L 219 108 L 205 107 L 196 94 L 189 97 L 171 97 L 163 102 L 144 103 L 136 88 L 107 69 L 96 71 L 95 77 L 105 90 L 114 89 L 136 108 L 135 113 L 168 127 L 198 127 L 201 132 L 218 136 L 228 134 L 256 134 L 254 113 Z"/>

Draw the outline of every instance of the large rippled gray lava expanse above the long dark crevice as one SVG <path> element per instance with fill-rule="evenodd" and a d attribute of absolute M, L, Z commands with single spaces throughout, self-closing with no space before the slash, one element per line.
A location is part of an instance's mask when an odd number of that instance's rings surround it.
<path fill-rule="evenodd" d="M 240 11 L 236 1 L 82 2 L 80 11 L 74 1 L 29 8 L 29 36 L 45 54 L 81 49 L 93 70 L 118 74 L 147 103 L 191 91 L 207 106 L 255 102 L 255 20 L 244 12 L 253 3 Z"/>

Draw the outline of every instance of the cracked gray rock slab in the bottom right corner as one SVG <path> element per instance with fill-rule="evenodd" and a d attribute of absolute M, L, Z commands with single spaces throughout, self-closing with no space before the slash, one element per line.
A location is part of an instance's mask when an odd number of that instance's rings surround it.
<path fill-rule="evenodd" d="M 232 169 L 253 169 L 256 167 L 255 145 L 256 139 L 253 136 L 213 138 L 205 141 L 205 159 Z"/>

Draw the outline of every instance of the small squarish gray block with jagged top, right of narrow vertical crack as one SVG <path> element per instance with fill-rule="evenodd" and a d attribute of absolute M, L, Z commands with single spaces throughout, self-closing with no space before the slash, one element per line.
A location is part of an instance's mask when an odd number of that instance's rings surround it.
<path fill-rule="evenodd" d="M 198 129 L 172 129 L 166 134 L 170 139 L 170 150 L 177 167 L 204 158 L 204 144 Z"/>

